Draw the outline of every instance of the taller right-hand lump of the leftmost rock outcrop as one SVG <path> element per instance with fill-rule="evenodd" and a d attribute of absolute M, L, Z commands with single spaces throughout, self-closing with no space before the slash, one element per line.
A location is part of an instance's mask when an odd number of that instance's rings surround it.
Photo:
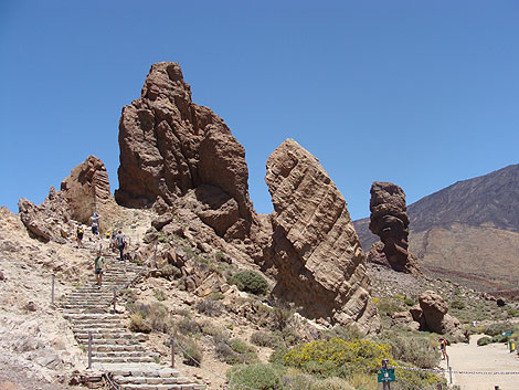
<path fill-rule="evenodd" d="M 71 171 L 61 183 L 61 193 L 72 219 L 82 223 L 89 224 L 94 211 L 105 217 L 116 207 L 105 165 L 95 156 L 88 156 Z"/>

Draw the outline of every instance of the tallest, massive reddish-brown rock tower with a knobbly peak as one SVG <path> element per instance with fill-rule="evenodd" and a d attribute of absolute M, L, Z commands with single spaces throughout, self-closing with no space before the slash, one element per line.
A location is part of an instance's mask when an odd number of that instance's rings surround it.
<path fill-rule="evenodd" d="M 179 64 L 153 64 L 141 96 L 123 108 L 116 200 L 166 212 L 195 190 L 197 214 L 227 240 L 250 234 L 245 150 L 225 123 L 191 99 Z"/>

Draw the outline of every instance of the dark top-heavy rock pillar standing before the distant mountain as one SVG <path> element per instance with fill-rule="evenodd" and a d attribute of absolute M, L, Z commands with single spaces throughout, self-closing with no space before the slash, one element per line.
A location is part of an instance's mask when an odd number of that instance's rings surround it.
<path fill-rule="evenodd" d="M 382 242 L 374 243 L 368 261 L 399 272 L 419 272 L 416 257 L 407 250 L 409 219 L 405 193 L 396 185 L 375 181 L 371 186 L 369 229 Z"/>

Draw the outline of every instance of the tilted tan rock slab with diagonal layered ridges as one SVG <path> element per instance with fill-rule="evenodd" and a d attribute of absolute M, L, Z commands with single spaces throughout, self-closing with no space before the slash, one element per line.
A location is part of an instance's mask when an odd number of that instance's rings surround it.
<path fill-rule="evenodd" d="M 265 181 L 274 204 L 265 250 L 276 270 L 273 293 L 309 318 L 380 329 L 346 201 L 319 161 L 287 139 L 268 158 Z"/>

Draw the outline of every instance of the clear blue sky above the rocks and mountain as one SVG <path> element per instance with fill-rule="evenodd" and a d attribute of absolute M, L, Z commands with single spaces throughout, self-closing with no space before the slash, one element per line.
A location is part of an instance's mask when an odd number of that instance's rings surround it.
<path fill-rule="evenodd" d="M 517 164 L 518 1 L 0 2 L 0 204 L 43 201 L 88 155 L 118 188 L 118 120 L 152 63 L 179 62 L 193 101 L 265 162 L 314 154 L 353 219 L 374 180 L 407 203 Z"/>

